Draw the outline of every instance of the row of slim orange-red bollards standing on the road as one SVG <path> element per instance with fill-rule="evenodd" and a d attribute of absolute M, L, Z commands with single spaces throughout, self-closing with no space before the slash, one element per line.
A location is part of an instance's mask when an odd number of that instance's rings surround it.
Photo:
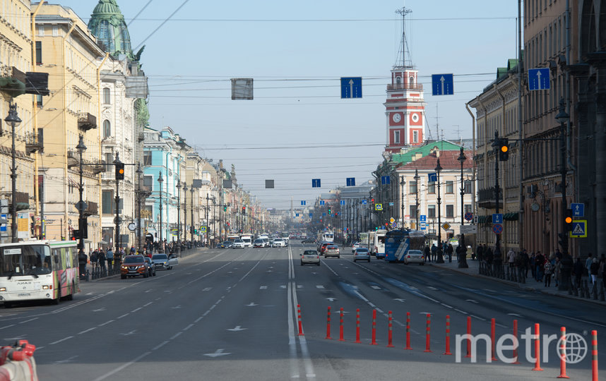
<path fill-rule="evenodd" d="M 297 312 L 299 318 L 299 336 L 303 335 L 302 331 L 302 322 L 301 322 L 301 307 L 297 305 Z M 343 337 L 343 308 L 340 308 L 340 320 L 339 320 L 339 341 L 345 341 Z M 387 346 L 393 348 L 393 317 L 391 311 L 388 311 L 388 336 L 387 336 Z M 426 315 L 426 327 L 425 327 L 425 350 L 424 352 L 431 352 L 430 349 L 430 338 L 431 338 L 431 325 L 432 325 L 432 315 L 427 313 Z M 490 357 L 491 361 L 497 361 L 497 358 L 494 356 L 495 353 L 495 342 L 496 342 L 496 332 L 495 332 L 496 320 L 492 318 L 490 320 L 490 339 L 491 339 L 491 348 L 490 348 Z M 560 346 L 559 346 L 559 358 L 560 358 L 560 374 L 558 378 L 569 378 L 566 375 L 566 327 L 562 327 L 560 329 Z M 467 317 L 467 334 L 471 337 L 471 317 Z M 542 368 L 540 366 L 540 325 L 538 323 L 535 324 L 535 367 L 533 370 L 541 371 Z M 518 361 L 518 320 L 513 320 L 513 337 L 515 337 L 516 345 L 513 346 L 513 364 L 519 364 Z M 592 368 L 592 381 L 598 381 L 598 332 L 591 331 L 591 368 Z M 331 307 L 328 306 L 328 317 L 326 322 L 326 339 L 331 339 Z M 410 312 L 406 313 L 406 330 L 405 330 L 405 341 L 406 346 L 404 349 L 412 349 L 410 346 Z M 471 340 L 466 339 L 467 341 L 467 354 L 466 358 L 470 358 L 472 356 L 471 353 Z M 356 310 L 356 343 L 361 343 L 360 341 L 360 308 Z M 372 338 L 371 345 L 376 345 L 376 310 L 372 310 Z M 450 315 L 446 315 L 446 350 L 444 351 L 444 355 L 452 355 L 451 353 L 451 318 Z"/>

